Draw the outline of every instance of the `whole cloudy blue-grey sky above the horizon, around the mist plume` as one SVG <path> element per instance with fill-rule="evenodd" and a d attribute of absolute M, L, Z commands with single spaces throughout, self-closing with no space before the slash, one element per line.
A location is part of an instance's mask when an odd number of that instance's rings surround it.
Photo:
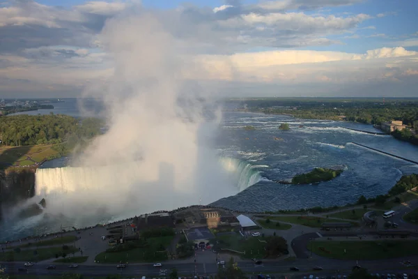
<path fill-rule="evenodd" d="M 71 98 L 105 82 L 114 63 L 102 29 L 137 11 L 199 65 L 185 79 L 222 96 L 418 97 L 417 10 L 417 0 L 0 0 L 0 97 Z"/>

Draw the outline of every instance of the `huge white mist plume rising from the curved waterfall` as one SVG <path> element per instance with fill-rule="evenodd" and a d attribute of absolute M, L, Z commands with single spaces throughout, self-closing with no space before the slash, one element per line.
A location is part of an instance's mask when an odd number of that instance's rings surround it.
<path fill-rule="evenodd" d="M 242 190 L 233 162 L 222 165 L 211 148 L 221 115 L 203 116 L 210 91 L 185 82 L 183 68 L 193 61 L 159 20 L 135 10 L 109 20 L 99 39 L 114 74 L 84 96 L 104 102 L 109 130 L 77 157 L 76 167 L 38 170 L 37 193 L 47 197 L 47 211 L 132 216 Z"/>

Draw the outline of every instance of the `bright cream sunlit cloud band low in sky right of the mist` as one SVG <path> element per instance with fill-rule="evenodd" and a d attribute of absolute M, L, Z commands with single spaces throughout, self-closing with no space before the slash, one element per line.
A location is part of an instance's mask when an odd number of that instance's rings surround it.
<path fill-rule="evenodd" d="M 194 79 L 226 80 L 240 82 L 277 82 L 293 81 L 330 82 L 339 80 L 353 80 L 353 77 L 362 79 L 355 74 L 355 68 L 362 65 L 364 70 L 379 63 L 386 63 L 385 59 L 394 59 L 405 56 L 418 56 L 418 52 L 403 49 L 403 47 L 384 47 L 369 50 L 366 54 L 350 54 L 346 52 L 319 52 L 311 50 L 284 50 L 269 52 L 250 52 L 232 55 L 202 55 L 196 57 L 196 62 L 203 66 L 203 73 L 187 73 Z M 376 59 L 384 59 L 383 61 Z M 341 63 L 350 63 L 350 68 L 341 68 Z M 358 62 L 355 62 L 358 61 Z M 364 61 L 371 61 L 365 63 Z M 336 75 L 335 63 L 339 63 Z M 400 61 L 401 66 L 403 61 Z M 372 67 L 373 68 L 373 67 Z M 347 75 L 346 75 L 347 74 Z M 344 76 L 346 75 L 346 76 Z M 380 70 L 367 73 L 369 79 L 382 78 Z M 327 78 L 325 78 L 327 77 Z M 389 77 L 389 75 L 387 75 Z"/>

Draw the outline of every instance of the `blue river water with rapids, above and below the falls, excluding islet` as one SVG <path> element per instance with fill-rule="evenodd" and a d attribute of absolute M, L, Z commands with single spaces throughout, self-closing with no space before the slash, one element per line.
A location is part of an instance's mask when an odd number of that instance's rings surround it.
<path fill-rule="evenodd" d="M 75 100 L 59 103 L 54 110 L 29 113 L 49 112 L 80 116 Z M 281 123 L 288 123 L 290 130 L 279 130 Z M 245 130 L 247 125 L 254 126 L 255 130 Z M 417 160 L 417 146 L 398 141 L 390 135 L 371 135 L 347 128 L 380 132 L 361 123 L 224 112 L 213 146 L 214 152 L 222 158 L 237 159 L 242 165 L 242 181 L 254 185 L 237 195 L 219 199 L 212 205 L 240 211 L 343 205 L 356 202 L 360 195 L 375 197 L 385 194 L 402 174 L 418 172 L 417 165 L 365 149 L 353 142 L 410 160 Z M 63 167 L 68 161 L 69 158 L 59 158 L 45 163 L 42 168 Z M 342 167 L 344 172 L 332 181 L 314 185 L 293 186 L 274 182 L 291 179 L 295 174 L 309 172 L 314 167 Z M 196 203 L 190 201 L 190 204 Z M 184 204 L 187 205 L 189 204 Z M 137 214 L 141 213 L 146 212 Z M 0 227 L 0 240 L 52 232 L 63 222 L 66 227 L 74 225 L 71 220 L 63 218 L 49 216 L 46 220 L 41 219 L 36 216 L 31 220 L 19 220 L 18 223 L 9 220 Z M 118 216 L 113 216 L 112 220 L 115 219 Z M 83 225 L 95 225 L 105 221 L 102 216 L 90 216 Z M 17 226 L 20 228 L 18 232 Z"/>

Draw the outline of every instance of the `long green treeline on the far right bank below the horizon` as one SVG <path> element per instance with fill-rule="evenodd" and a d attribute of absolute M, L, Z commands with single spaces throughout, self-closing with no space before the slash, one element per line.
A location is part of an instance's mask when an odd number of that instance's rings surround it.
<path fill-rule="evenodd" d="M 376 124 L 397 120 L 418 130 L 417 99 L 265 98 L 242 101 L 251 112 L 291 114 L 300 119 L 346 120 Z M 417 133 L 408 128 L 392 133 L 398 140 L 418 145 Z"/>

